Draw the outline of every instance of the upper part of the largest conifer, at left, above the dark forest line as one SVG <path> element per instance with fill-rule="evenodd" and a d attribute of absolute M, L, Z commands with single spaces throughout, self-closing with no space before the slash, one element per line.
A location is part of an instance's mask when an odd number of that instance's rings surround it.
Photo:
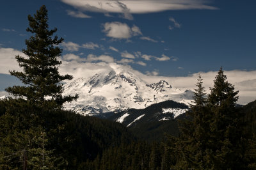
<path fill-rule="evenodd" d="M 36 11 L 34 16 L 28 15 L 29 27 L 26 31 L 33 35 L 26 40 L 27 48 L 22 52 L 28 57 L 15 56 L 23 72 L 10 71 L 26 86 L 13 86 L 6 91 L 14 96 L 26 98 L 30 104 L 40 108 L 60 109 L 65 102 L 70 102 L 78 96 L 65 96 L 61 81 L 71 80 L 72 75 L 60 75 L 58 67 L 61 61 L 61 49 L 58 44 L 63 38 L 54 36 L 57 29 L 49 29 L 48 15 L 45 6 Z"/>

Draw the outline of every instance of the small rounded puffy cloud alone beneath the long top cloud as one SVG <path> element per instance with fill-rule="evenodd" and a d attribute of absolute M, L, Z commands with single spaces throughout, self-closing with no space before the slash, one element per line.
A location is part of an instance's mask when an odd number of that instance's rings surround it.
<path fill-rule="evenodd" d="M 137 26 L 129 27 L 127 24 L 122 22 L 106 22 L 103 24 L 106 36 L 118 39 L 128 39 L 132 36 L 141 35 L 140 28 Z"/>

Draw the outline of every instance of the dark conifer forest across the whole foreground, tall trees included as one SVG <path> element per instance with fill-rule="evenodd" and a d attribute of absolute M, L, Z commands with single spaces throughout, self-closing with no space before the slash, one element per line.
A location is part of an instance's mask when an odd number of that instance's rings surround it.
<path fill-rule="evenodd" d="M 23 71 L 10 71 L 24 85 L 0 100 L 0 169 L 256 169 L 256 100 L 237 105 L 222 67 L 211 93 L 199 75 L 188 111 L 148 137 L 147 125 L 64 110 L 79 96 L 63 95 L 61 82 L 73 78 L 58 71 L 63 38 L 49 29 L 45 6 L 28 20 L 28 57 L 15 56 Z"/>

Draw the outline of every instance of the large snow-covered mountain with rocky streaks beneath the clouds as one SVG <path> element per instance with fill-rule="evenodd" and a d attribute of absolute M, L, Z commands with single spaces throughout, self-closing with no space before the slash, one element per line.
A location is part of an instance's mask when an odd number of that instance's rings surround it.
<path fill-rule="evenodd" d="M 77 101 L 65 104 L 66 109 L 84 115 L 143 109 L 149 105 L 174 100 L 188 104 L 193 92 L 172 87 L 172 82 L 161 80 L 148 83 L 123 65 L 108 64 L 108 69 L 67 82 L 64 95 L 78 94 Z"/>

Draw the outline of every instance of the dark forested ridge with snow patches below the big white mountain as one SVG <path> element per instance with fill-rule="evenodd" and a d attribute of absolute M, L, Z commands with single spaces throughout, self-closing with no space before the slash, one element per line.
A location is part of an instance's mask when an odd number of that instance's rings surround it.
<path fill-rule="evenodd" d="M 165 134 L 179 135 L 178 120 L 188 109 L 185 104 L 168 100 L 145 109 L 118 112 L 108 119 L 122 123 L 141 139 L 160 141 Z"/>

